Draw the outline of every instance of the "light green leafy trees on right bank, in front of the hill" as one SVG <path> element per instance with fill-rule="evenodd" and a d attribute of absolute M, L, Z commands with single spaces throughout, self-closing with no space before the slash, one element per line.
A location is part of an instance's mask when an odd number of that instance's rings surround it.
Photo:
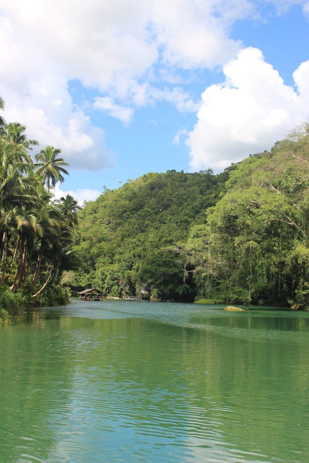
<path fill-rule="evenodd" d="M 230 173 L 184 248 L 200 293 L 226 302 L 309 305 L 309 125 Z"/>

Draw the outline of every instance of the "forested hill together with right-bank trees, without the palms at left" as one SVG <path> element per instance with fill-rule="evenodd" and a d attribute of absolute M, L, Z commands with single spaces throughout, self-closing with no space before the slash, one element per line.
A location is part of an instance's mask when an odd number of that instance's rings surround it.
<path fill-rule="evenodd" d="M 309 305 L 309 125 L 219 175 L 148 173 L 79 213 L 73 290 Z"/>

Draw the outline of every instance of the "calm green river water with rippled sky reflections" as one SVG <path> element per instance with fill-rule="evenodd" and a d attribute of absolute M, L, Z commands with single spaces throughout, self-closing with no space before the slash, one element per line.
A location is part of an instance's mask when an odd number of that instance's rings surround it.
<path fill-rule="evenodd" d="M 0 462 L 309 462 L 309 313 L 72 300 L 0 326 Z"/>

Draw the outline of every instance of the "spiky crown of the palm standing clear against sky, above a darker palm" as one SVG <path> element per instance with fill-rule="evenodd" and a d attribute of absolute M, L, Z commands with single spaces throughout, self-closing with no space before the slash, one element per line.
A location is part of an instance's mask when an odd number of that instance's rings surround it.
<path fill-rule="evenodd" d="M 55 188 L 57 181 L 60 183 L 64 182 L 62 174 L 69 175 L 69 172 L 63 168 L 63 166 L 69 166 L 70 164 L 64 162 L 62 157 L 57 157 L 61 153 L 59 148 L 53 146 L 46 146 L 44 150 L 41 150 L 39 154 L 35 156 L 36 160 L 39 161 L 35 166 L 38 168 L 38 175 L 44 175 L 47 183 L 48 191 Z"/>

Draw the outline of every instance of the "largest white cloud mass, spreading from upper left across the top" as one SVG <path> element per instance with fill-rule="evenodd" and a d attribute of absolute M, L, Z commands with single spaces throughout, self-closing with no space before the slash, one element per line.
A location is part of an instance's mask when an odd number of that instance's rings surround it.
<path fill-rule="evenodd" d="M 274 1 L 278 8 L 297 2 Z M 62 148 L 74 168 L 110 167 L 104 131 L 83 109 L 89 102 L 73 103 L 69 82 L 95 89 L 97 105 L 125 124 L 134 107 L 155 101 L 197 111 L 197 102 L 179 87 L 162 90 L 164 75 L 171 85 L 180 69 L 213 69 L 230 61 L 242 47 L 230 36 L 232 26 L 258 18 L 259 3 L 264 2 L 0 0 L 5 116 L 26 124 L 27 134 L 42 145 Z M 160 89 L 154 87 L 158 78 Z"/>

